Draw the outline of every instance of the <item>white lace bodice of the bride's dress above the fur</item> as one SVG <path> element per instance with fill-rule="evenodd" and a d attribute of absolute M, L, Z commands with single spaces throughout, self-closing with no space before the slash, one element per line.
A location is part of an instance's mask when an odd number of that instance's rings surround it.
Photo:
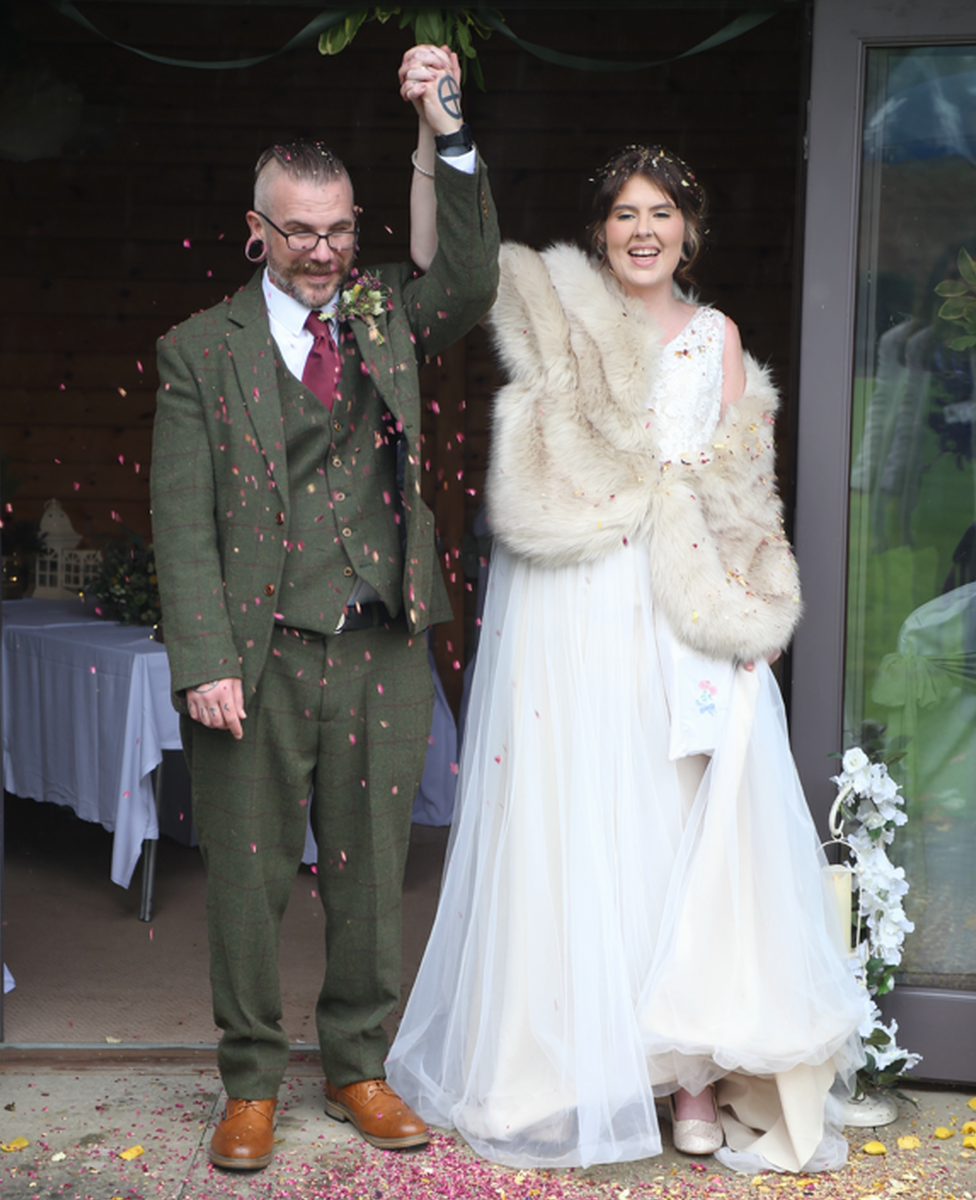
<path fill-rule="evenodd" d="M 660 372 L 648 401 L 658 427 L 661 461 L 701 449 L 718 425 L 725 317 L 699 308 L 661 350 Z"/>

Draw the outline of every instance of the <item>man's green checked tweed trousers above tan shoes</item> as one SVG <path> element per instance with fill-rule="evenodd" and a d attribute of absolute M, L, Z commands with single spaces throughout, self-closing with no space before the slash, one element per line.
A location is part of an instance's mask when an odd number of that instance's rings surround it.
<path fill-rule="evenodd" d="M 339 1087 L 383 1078 L 382 1022 L 400 998 L 401 890 L 432 703 L 426 642 L 400 617 L 328 640 L 276 626 L 239 742 L 182 718 L 228 1096 L 276 1096 L 287 1067 L 279 934 L 310 792 L 325 910 L 322 1064 Z"/>

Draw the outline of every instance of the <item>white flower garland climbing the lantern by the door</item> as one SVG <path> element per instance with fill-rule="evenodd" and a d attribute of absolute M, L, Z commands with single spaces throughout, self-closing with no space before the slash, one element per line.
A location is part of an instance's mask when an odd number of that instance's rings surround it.
<path fill-rule="evenodd" d="M 848 750 L 842 761 L 843 770 L 834 775 L 838 798 L 836 810 L 856 828 L 843 835 L 843 821 L 832 833 L 846 846 L 854 859 L 857 884 L 858 940 L 851 964 L 858 982 L 864 986 L 864 1019 L 858 1034 L 864 1044 L 867 1067 L 862 1075 L 876 1087 L 891 1087 L 903 1072 L 921 1062 L 922 1056 L 898 1045 L 898 1022 L 887 1025 L 875 1001 L 894 986 L 894 968 L 902 962 L 905 934 L 915 925 L 905 914 L 903 900 L 909 890 L 905 869 L 896 866 L 886 847 L 894 840 L 894 830 L 908 817 L 902 809 L 904 797 L 899 785 L 888 774 L 884 762 L 872 762 L 860 746 Z M 857 806 L 849 805 L 849 797 Z M 863 925 L 862 925 L 863 922 Z"/>

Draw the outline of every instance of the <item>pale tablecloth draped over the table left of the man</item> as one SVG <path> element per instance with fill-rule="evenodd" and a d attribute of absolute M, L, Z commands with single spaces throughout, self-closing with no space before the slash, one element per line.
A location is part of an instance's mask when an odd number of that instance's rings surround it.
<path fill-rule="evenodd" d="M 158 836 L 152 772 L 180 749 L 164 648 L 79 600 L 5 600 L 2 684 L 7 791 L 113 833 L 112 878 L 128 887 Z"/>

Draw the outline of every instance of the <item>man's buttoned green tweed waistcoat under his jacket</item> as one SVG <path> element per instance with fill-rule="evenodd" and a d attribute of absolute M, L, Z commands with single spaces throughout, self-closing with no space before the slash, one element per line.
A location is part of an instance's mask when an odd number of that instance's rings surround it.
<path fill-rule="evenodd" d="M 292 504 L 277 611 L 330 634 L 357 577 L 396 612 L 402 557 L 395 508 L 396 431 L 377 392 L 340 388 L 330 413 L 277 367 Z"/>

